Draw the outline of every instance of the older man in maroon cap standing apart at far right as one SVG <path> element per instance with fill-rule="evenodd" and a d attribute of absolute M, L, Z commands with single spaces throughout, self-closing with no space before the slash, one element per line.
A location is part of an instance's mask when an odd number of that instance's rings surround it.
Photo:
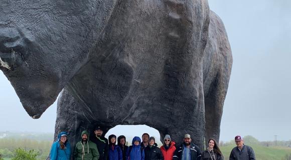
<path fill-rule="evenodd" d="M 244 145 L 243 138 L 240 135 L 234 137 L 236 147 L 234 147 L 229 155 L 229 160 L 255 160 L 253 149 Z"/>

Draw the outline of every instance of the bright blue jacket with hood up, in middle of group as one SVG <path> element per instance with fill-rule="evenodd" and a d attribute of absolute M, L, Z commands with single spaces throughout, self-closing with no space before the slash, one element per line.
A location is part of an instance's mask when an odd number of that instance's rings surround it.
<path fill-rule="evenodd" d="M 139 141 L 138 145 L 134 145 L 134 141 Z M 144 160 L 144 150 L 140 146 L 140 138 L 134 136 L 131 142 L 131 145 L 127 148 L 126 151 L 126 160 Z"/>

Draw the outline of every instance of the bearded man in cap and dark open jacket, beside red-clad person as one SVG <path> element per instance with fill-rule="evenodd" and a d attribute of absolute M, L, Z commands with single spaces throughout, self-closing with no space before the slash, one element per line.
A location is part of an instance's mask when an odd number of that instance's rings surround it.
<path fill-rule="evenodd" d="M 200 148 L 191 143 L 190 134 L 185 134 L 184 142 L 176 149 L 173 155 L 173 160 L 200 160 L 200 158 Z"/>

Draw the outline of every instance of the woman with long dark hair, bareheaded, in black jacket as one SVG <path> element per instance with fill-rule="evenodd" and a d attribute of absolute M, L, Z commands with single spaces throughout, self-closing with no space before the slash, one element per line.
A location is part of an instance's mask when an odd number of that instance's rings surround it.
<path fill-rule="evenodd" d="M 223 155 L 215 139 L 208 140 L 208 147 L 202 152 L 201 160 L 223 160 Z"/>

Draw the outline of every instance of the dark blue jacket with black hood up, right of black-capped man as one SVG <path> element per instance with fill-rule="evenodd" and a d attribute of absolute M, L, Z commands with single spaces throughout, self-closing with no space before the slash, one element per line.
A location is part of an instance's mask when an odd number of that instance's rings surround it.
<path fill-rule="evenodd" d="M 111 143 L 110 139 L 112 137 L 115 137 L 115 139 L 116 139 L 116 135 L 111 134 L 108 137 L 108 139 L 109 139 L 108 159 L 109 160 L 122 160 L 122 151 L 121 151 L 120 147 L 115 144 L 116 140 L 115 140 L 115 143 Z"/>

